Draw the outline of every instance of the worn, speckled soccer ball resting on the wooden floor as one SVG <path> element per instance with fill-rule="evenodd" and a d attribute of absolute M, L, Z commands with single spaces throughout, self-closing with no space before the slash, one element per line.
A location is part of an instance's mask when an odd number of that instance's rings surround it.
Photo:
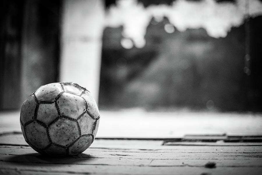
<path fill-rule="evenodd" d="M 72 82 L 39 87 L 22 105 L 25 141 L 38 153 L 78 155 L 94 141 L 100 114 L 90 92 Z"/>

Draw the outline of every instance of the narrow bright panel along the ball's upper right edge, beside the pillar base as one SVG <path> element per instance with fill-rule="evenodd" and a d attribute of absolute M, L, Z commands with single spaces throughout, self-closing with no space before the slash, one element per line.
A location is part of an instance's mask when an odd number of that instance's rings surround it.
<path fill-rule="evenodd" d="M 90 92 L 84 91 L 84 93 L 81 95 L 88 104 L 88 112 L 95 118 L 98 118 L 100 116 L 97 104 L 95 102 L 95 99 L 91 96 Z"/>

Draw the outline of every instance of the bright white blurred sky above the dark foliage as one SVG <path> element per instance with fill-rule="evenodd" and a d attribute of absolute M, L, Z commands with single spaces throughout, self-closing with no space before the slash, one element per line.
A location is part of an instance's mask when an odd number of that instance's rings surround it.
<path fill-rule="evenodd" d="M 246 17 L 259 15 L 262 15 L 262 3 L 259 0 L 236 0 L 235 3 L 176 0 L 171 6 L 162 4 L 147 8 L 137 0 L 118 0 L 115 6 L 109 8 L 105 26 L 123 26 L 123 37 L 141 48 L 146 44 L 144 36 L 152 18 L 155 22 L 161 22 L 167 17 L 170 22 L 164 26 L 167 33 L 173 33 L 175 28 L 181 32 L 203 28 L 209 36 L 220 38 L 226 37 L 232 27 L 242 25 Z M 131 47 L 127 40 L 121 41 L 121 45 L 126 49 Z"/>

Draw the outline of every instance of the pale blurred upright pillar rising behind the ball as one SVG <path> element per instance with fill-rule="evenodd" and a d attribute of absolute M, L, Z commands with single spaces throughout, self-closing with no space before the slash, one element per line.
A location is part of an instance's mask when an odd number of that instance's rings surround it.
<path fill-rule="evenodd" d="M 104 4 L 102 0 L 64 0 L 59 81 L 86 87 L 98 102 Z"/>

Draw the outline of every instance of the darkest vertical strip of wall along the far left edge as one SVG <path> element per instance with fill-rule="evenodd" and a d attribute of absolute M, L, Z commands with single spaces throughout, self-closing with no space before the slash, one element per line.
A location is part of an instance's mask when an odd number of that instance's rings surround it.
<path fill-rule="evenodd" d="M 0 109 L 19 106 L 24 1 L 1 1 Z"/>

